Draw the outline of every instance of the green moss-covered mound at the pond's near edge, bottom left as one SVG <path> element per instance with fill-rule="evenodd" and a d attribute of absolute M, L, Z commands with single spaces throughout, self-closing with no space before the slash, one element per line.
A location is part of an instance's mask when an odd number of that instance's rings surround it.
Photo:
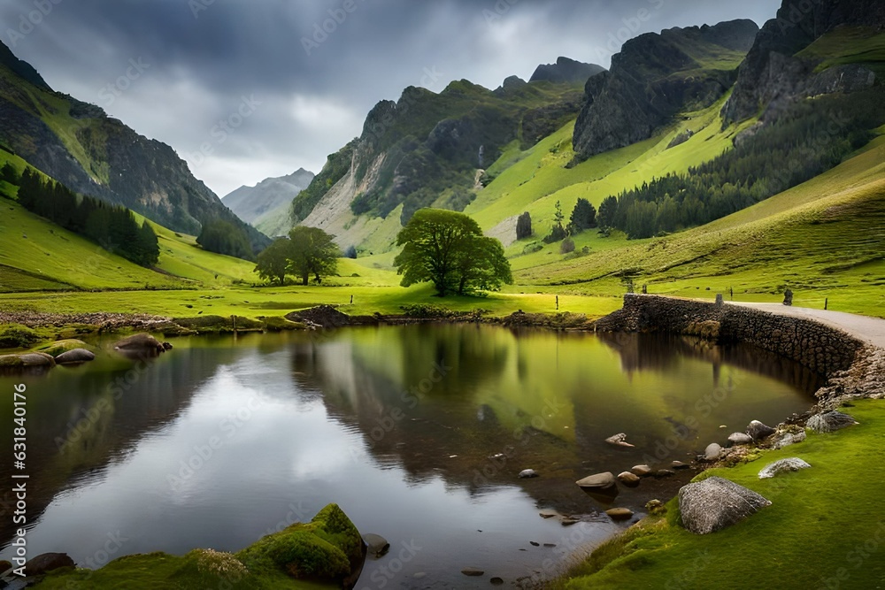
<path fill-rule="evenodd" d="M 52 572 L 40 590 L 96 588 L 340 588 L 362 565 L 363 541 L 335 504 L 310 523 L 273 533 L 237 554 L 195 549 L 184 556 L 150 553 L 115 559 L 103 568 Z"/>

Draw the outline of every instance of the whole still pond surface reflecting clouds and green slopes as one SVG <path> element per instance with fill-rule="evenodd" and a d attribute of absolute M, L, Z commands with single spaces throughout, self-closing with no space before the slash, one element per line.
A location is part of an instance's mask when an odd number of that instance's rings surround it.
<path fill-rule="evenodd" d="M 13 385 L 28 388 L 30 556 L 236 551 L 337 502 L 392 547 L 358 588 L 525 583 L 626 525 L 576 479 L 688 461 L 806 410 L 818 384 L 755 349 L 658 335 L 387 326 L 175 346 L 150 366 L 108 352 L 0 377 L 5 423 Z M 615 433 L 635 448 L 606 444 Z M 641 512 L 674 485 L 646 479 L 614 505 Z M 4 559 L 10 518 L 0 534 Z"/>

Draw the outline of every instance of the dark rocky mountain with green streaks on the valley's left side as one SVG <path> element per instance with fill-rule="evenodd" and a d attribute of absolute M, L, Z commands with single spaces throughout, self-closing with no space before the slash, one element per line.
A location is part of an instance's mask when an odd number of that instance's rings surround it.
<path fill-rule="evenodd" d="M 253 249 L 269 243 L 196 180 L 171 147 L 52 90 L 3 43 L 0 120 L 4 149 L 78 193 L 125 205 L 182 234 L 222 219 L 242 227 Z"/>

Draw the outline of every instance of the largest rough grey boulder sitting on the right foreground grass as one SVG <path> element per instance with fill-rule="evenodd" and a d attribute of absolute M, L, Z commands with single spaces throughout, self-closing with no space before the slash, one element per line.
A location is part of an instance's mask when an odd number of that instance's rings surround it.
<path fill-rule="evenodd" d="M 679 490 L 682 525 L 696 534 L 714 533 L 770 505 L 756 492 L 715 476 Z"/>

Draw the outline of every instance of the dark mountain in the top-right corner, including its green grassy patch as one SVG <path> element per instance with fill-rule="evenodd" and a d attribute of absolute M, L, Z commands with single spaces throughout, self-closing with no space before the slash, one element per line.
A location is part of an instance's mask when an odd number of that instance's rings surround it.
<path fill-rule="evenodd" d="M 805 96 L 873 85 L 881 69 L 881 0 L 785 0 L 759 32 L 723 110 L 725 123 L 762 119 Z"/>

